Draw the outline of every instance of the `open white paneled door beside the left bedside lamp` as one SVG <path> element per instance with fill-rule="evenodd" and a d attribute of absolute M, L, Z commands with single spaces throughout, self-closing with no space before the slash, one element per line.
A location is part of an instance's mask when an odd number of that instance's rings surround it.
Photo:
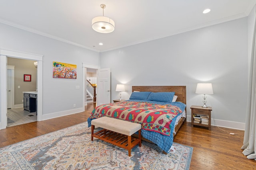
<path fill-rule="evenodd" d="M 110 103 L 110 68 L 98 69 L 97 105 Z"/>

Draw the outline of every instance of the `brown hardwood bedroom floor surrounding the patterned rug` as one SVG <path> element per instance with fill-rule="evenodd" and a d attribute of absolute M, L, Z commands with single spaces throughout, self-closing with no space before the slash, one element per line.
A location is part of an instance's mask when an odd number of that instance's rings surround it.
<path fill-rule="evenodd" d="M 95 104 L 90 103 L 82 113 L 2 129 L 0 147 L 87 121 L 94 107 Z M 243 138 L 244 131 L 215 126 L 209 131 L 203 127 L 192 127 L 191 123 L 187 122 L 175 135 L 174 142 L 193 147 L 190 170 L 256 169 L 256 161 L 249 160 L 242 154 L 240 148 Z"/>

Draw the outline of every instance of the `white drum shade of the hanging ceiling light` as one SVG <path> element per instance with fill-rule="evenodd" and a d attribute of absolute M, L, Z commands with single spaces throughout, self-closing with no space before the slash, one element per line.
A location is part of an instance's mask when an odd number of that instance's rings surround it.
<path fill-rule="evenodd" d="M 92 19 L 92 29 L 100 33 L 111 33 L 115 29 L 115 22 L 105 16 L 97 16 Z"/>

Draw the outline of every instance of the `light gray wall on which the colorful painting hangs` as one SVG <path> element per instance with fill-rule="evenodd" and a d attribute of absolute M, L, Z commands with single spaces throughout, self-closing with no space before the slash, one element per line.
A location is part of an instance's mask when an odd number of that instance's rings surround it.
<path fill-rule="evenodd" d="M 43 55 L 44 119 L 84 109 L 82 63 L 100 65 L 99 53 L 0 23 L 0 48 Z M 52 62 L 77 65 L 77 79 L 52 78 Z M 80 89 L 76 89 L 80 86 Z M 1 101 L 3 104 L 4 101 Z M 76 107 L 73 107 L 76 104 Z M 47 116 L 46 116 L 47 115 Z"/>

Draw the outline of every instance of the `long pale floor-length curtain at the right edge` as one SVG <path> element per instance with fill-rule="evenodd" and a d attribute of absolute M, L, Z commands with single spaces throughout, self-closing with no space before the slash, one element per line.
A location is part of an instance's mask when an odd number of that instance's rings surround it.
<path fill-rule="evenodd" d="M 244 143 L 241 149 L 248 159 L 256 160 L 256 17 L 254 21 L 254 33 L 252 40 L 252 56 L 250 61 L 250 74 L 248 86 L 248 98 L 246 108 L 246 122 L 244 131 Z"/>

